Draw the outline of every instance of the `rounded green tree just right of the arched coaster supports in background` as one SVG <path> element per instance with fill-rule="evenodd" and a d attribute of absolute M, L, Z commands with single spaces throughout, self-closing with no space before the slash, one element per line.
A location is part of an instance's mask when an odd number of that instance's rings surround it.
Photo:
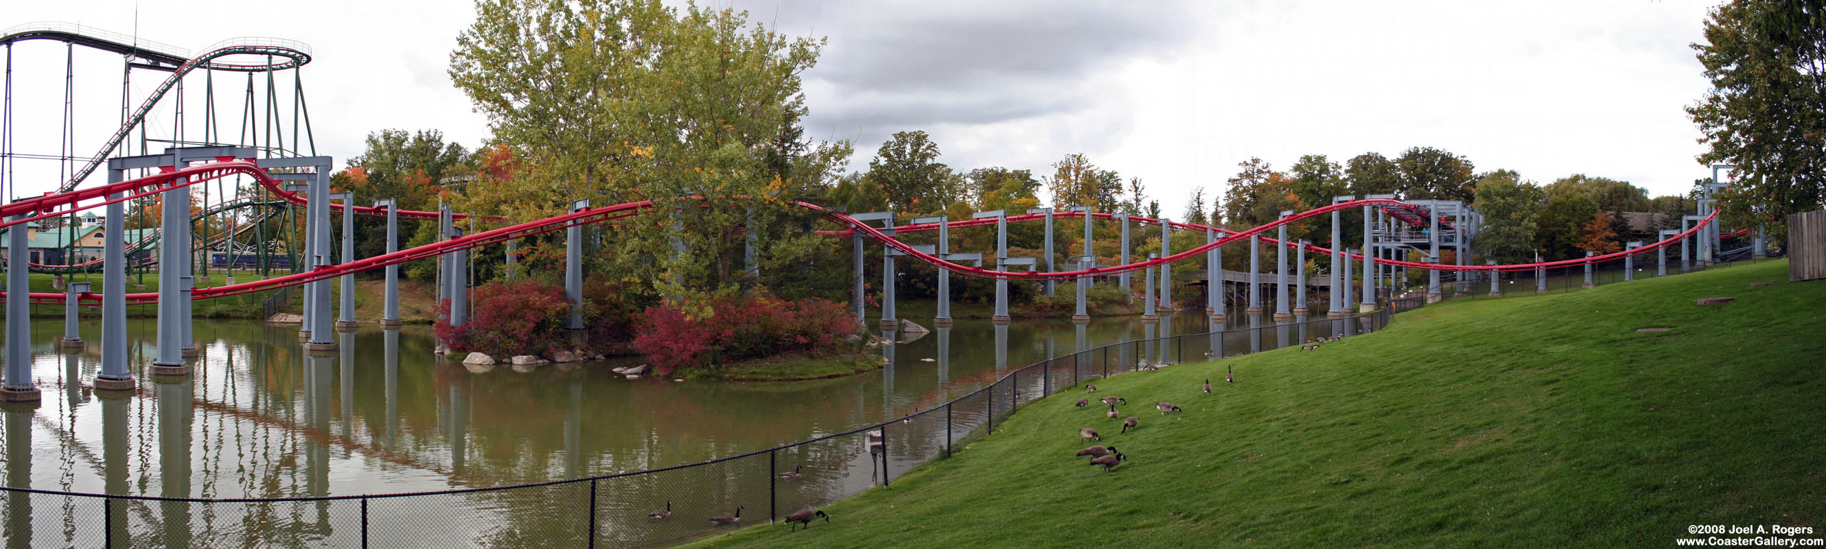
<path fill-rule="evenodd" d="M 1497 170 L 1477 179 L 1477 212 L 1485 226 L 1475 248 L 1497 263 L 1534 261 L 1534 232 L 1547 193 L 1512 170 Z"/>

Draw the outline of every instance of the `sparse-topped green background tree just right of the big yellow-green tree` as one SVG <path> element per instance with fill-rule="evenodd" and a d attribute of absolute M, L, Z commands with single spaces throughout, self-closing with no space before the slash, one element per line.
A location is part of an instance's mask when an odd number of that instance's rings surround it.
<path fill-rule="evenodd" d="M 951 204 L 962 195 L 953 188 L 951 168 L 939 164 L 939 144 L 926 131 L 895 131 L 882 142 L 864 175 L 882 188 L 895 212 L 926 213 Z"/>

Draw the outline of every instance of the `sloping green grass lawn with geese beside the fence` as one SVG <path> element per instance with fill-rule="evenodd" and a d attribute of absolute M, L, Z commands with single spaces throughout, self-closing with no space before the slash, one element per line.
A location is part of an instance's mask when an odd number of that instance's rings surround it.
<path fill-rule="evenodd" d="M 825 507 L 831 523 L 699 545 L 1671 547 L 1689 523 L 1821 533 L 1826 281 L 1788 283 L 1786 268 L 1450 301 L 1315 352 L 1101 379 L 1096 396 L 1127 398 L 1139 430 L 1074 407 L 1083 392 L 1046 398 L 889 491 Z M 1713 295 L 1737 301 L 1693 305 Z M 1081 427 L 1130 460 L 1105 474 L 1074 458 Z"/>

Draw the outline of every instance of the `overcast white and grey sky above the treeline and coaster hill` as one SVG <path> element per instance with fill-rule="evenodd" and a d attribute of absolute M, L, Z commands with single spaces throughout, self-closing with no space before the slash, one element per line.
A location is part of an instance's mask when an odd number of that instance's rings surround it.
<path fill-rule="evenodd" d="M 708 4 L 829 36 L 803 75 L 807 135 L 853 140 L 856 170 L 891 133 L 924 129 L 957 170 L 1037 177 L 1085 153 L 1141 177 L 1170 215 L 1194 186 L 1220 193 L 1249 157 L 1286 168 L 1300 155 L 1342 164 L 1432 146 L 1477 171 L 1603 175 L 1653 195 L 1707 177 L 1682 108 L 1707 89 L 1689 44 L 1711 0 Z M 194 53 L 232 36 L 301 40 L 314 55 L 303 86 L 316 146 L 338 161 L 383 128 L 442 129 L 469 148 L 488 137 L 446 75 L 469 2 L 9 2 L 4 16 L 0 27 L 137 26 L 144 40 Z M 64 44 L 13 49 L 15 150 L 55 155 Z M 119 122 L 121 60 L 77 51 L 75 66 L 75 150 L 88 157 Z M 133 104 L 163 77 L 135 71 Z M 230 135 L 247 86 L 237 78 L 215 80 Z M 201 89 L 186 82 L 192 139 Z M 173 113 L 159 113 L 153 133 L 168 137 Z M 16 192 L 53 188 L 57 170 L 18 159 Z"/>

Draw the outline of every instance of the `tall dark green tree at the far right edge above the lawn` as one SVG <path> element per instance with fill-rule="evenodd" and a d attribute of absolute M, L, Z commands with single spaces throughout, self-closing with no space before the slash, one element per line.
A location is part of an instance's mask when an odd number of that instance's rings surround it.
<path fill-rule="evenodd" d="M 1711 9 L 1693 44 L 1713 89 L 1687 115 L 1711 150 L 1737 164 L 1718 206 L 1727 226 L 1826 204 L 1826 2 L 1731 0 Z M 1769 228 L 1782 230 L 1782 224 Z"/>

